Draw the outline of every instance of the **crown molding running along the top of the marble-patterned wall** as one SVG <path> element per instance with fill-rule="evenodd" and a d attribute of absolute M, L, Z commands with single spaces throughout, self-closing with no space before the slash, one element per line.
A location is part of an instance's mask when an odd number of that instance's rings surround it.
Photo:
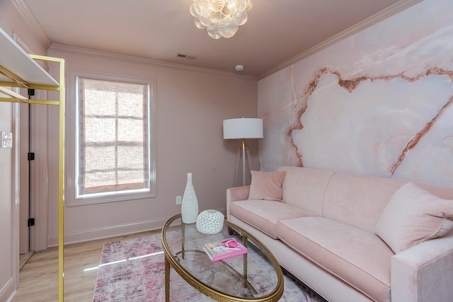
<path fill-rule="evenodd" d="M 306 50 L 305 52 L 297 54 L 297 56 L 292 57 L 291 59 L 288 59 L 287 61 L 283 62 L 282 64 L 278 64 L 277 66 L 269 69 L 268 71 L 263 72 L 263 74 L 260 74 L 258 76 L 258 80 L 264 79 L 265 77 L 270 76 L 271 74 L 275 74 L 275 72 L 277 72 L 277 71 L 285 69 L 286 67 L 291 66 L 292 64 L 297 63 L 297 62 L 301 61 L 302 59 L 305 59 L 306 57 L 309 57 L 312 54 L 315 54 L 316 52 L 319 52 L 320 50 L 323 50 L 324 48 L 349 37 L 350 35 L 359 33 L 360 31 L 365 30 L 366 28 L 369 28 L 372 25 L 379 23 L 379 22 L 385 20 L 386 18 L 394 16 L 396 13 L 404 11 L 406 8 L 409 8 L 422 1 L 423 0 L 398 1 L 398 2 L 396 2 L 396 4 L 393 4 L 393 5 L 389 6 L 388 8 L 385 8 L 384 10 L 379 11 L 379 13 L 375 13 L 373 16 L 370 16 L 369 18 L 366 18 L 365 20 L 360 21 L 359 23 L 357 23 L 355 25 L 352 25 L 350 28 L 343 30 L 342 32 L 338 33 L 337 35 L 334 35 L 333 37 L 330 37 L 327 40 L 324 40 L 323 42 L 319 43 L 318 45 L 311 47 L 309 50 Z"/>

